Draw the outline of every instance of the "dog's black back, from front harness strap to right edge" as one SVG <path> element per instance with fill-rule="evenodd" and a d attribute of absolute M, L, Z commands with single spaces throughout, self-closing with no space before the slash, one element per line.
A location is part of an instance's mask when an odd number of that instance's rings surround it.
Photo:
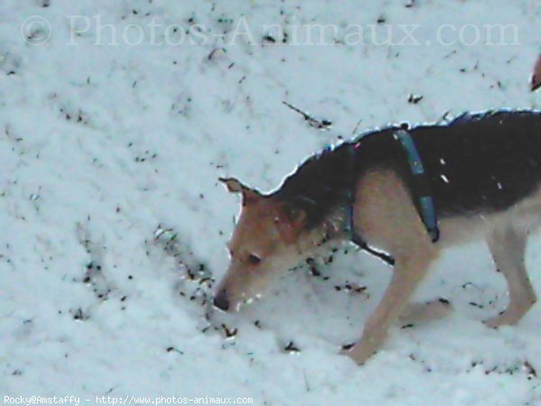
<path fill-rule="evenodd" d="M 388 166 L 411 184 L 397 128 L 361 140 L 357 171 Z M 438 216 L 505 210 L 541 182 L 541 114 L 497 112 L 463 115 L 449 125 L 408 130 L 419 155 Z"/>

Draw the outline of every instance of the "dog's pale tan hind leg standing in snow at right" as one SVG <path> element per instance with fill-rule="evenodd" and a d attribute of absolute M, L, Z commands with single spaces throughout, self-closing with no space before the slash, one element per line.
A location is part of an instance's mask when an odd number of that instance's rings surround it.
<path fill-rule="evenodd" d="M 510 222 L 491 230 L 487 242 L 494 263 L 503 273 L 509 289 L 509 305 L 500 316 L 485 323 L 491 328 L 516 324 L 536 303 L 536 292 L 527 277 L 524 264 L 527 232 L 519 230 Z"/>

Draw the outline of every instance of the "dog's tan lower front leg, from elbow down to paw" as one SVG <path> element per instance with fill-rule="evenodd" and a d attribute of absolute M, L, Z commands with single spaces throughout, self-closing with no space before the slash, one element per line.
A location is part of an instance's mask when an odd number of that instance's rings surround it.
<path fill-rule="evenodd" d="M 344 354 L 357 364 L 363 364 L 383 344 L 387 332 L 408 299 L 425 277 L 428 266 L 436 256 L 430 250 L 417 251 L 412 256 L 397 259 L 389 287 L 378 307 L 365 324 L 362 339 Z"/>

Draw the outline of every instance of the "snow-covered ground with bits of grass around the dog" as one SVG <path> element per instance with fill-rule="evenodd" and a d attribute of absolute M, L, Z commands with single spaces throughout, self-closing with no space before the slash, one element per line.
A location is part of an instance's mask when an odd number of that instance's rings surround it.
<path fill-rule="evenodd" d="M 301 267 L 210 325 L 199 274 L 228 261 L 238 201 L 219 176 L 271 190 L 374 126 L 539 107 L 540 21 L 537 0 L 2 0 L 0 401 L 541 404 L 541 306 L 517 327 L 481 324 L 507 300 L 484 245 L 445 254 L 417 293 L 451 314 L 393 329 L 362 367 L 338 351 L 389 280 L 375 259 L 341 251 L 322 277 Z M 337 29 L 319 39 L 315 24 Z M 511 28 L 491 38 L 494 24 Z M 537 237 L 537 291 L 540 261 Z"/>

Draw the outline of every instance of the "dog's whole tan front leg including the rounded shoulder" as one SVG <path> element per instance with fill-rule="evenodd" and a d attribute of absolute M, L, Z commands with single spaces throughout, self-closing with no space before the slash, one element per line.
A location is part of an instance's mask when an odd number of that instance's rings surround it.
<path fill-rule="evenodd" d="M 366 322 L 361 341 L 346 352 L 362 364 L 385 341 L 390 325 L 425 277 L 438 248 L 427 234 L 407 186 L 394 171 L 371 171 L 359 180 L 353 215 L 358 235 L 396 261 L 387 291 Z"/>

